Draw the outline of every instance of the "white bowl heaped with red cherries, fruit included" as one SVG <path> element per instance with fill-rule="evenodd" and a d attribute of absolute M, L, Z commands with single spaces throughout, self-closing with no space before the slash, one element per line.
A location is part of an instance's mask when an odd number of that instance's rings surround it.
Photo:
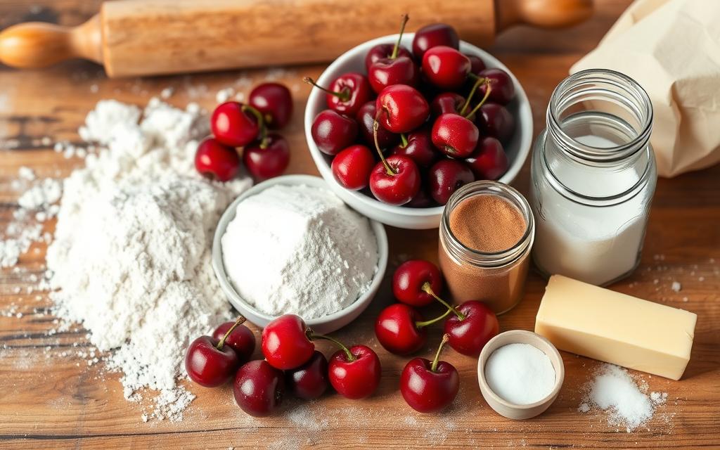
<path fill-rule="evenodd" d="M 325 69 L 305 107 L 330 189 L 400 228 L 437 228 L 464 184 L 510 183 L 530 151 L 528 98 L 507 67 L 446 24 L 379 37 Z"/>

